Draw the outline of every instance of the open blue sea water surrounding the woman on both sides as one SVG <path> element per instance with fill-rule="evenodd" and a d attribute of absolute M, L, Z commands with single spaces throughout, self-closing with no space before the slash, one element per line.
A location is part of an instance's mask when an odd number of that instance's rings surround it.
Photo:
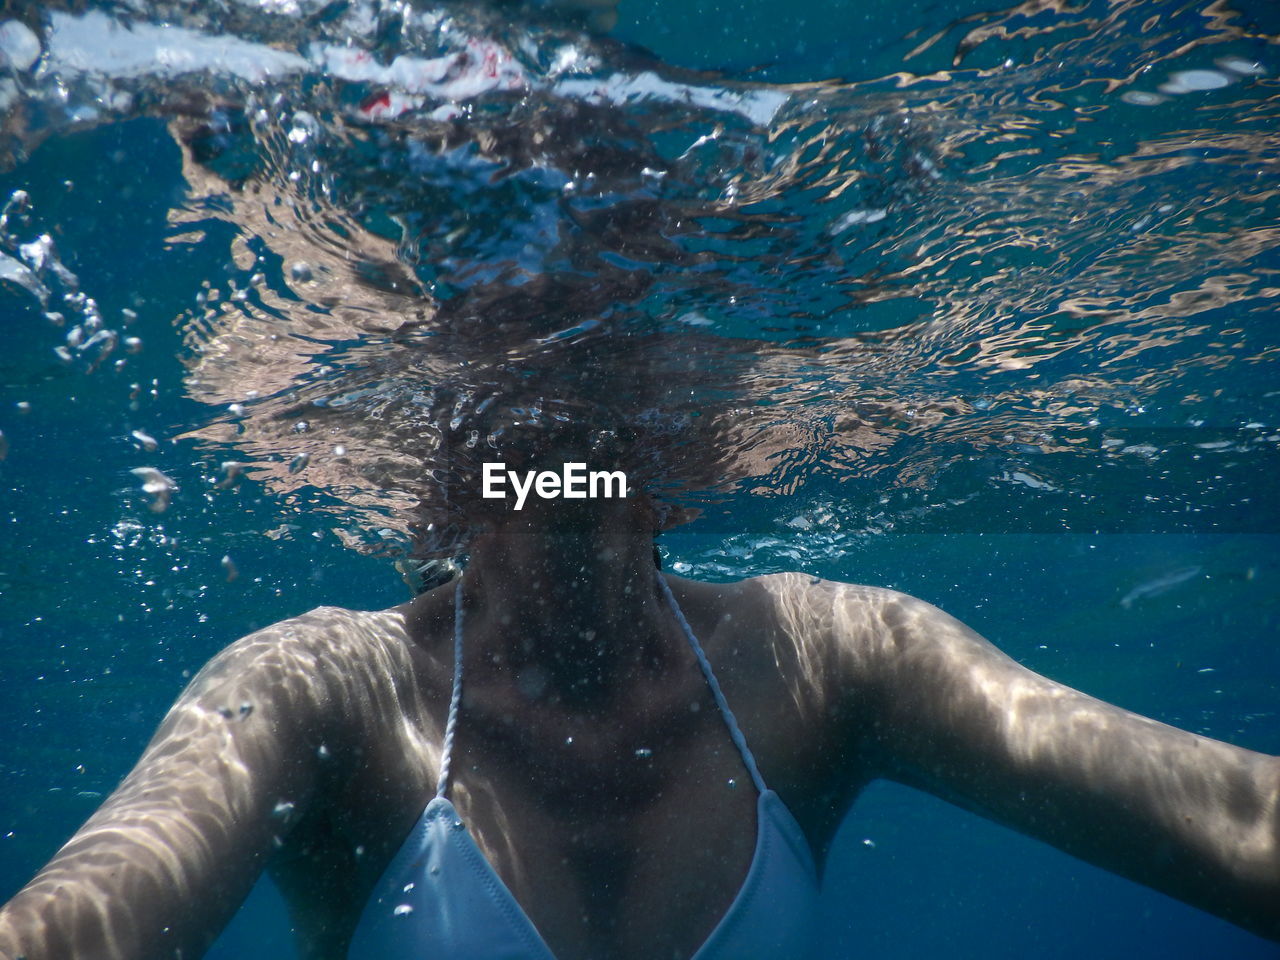
<path fill-rule="evenodd" d="M 740 220 L 699 207 L 707 236 L 689 246 L 716 261 L 707 289 L 654 270 L 636 307 L 663 329 L 745 344 L 751 362 L 732 403 L 716 406 L 719 380 L 695 384 L 707 408 L 748 424 L 746 439 L 723 433 L 746 479 L 664 535 L 667 564 L 905 590 L 1056 680 L 1280 753 L 1277 20 L 1268 4 L 1023 17 L 955 3 L 623 4 L 616 35 L 659 61 L 822 101 L 763 147 L 726 122 L 726 154 L 681 174 L 705 174 L 714 197 L 667 196 L 721 202 L 781 180 L 786 161 L 797 170 Z M 1161 92 L 1188 70 L 1225 86 Z M 841 82 L 795 86 L 829 78 Z M 1123 99 L 1134 92 L 1158 102 Z M 919 133 L 877 120 L 902 111 Z M 682 123 L 654 136 L 714 125 Z M 223 645 L 321 603 L 407 595 L 385 557 L 335 532 L 374 529 L 358 504 L 319 481 L 291 486 L 288 471 L 220 483 L 234 457 L 289 462 L 275 438 L 250 428 L 248 453 L 234 436 L 183 439 L 219 419 L 191 385 L 214 339 L 204 311 L 257 269 L 283 291 L 288 253 L 268 242 L 246 265 L 248 228 L 191 180 L 165 119 L 51 131 L 0 197 L 27 191 L 22 239 L 47 232 L 104 317 L 137 314 L 120 330 L 142 348 L 65 364 L 52 348 L 67 329 L 27 289 L 0 291 L 0 896 L 110 792 Z M 735 179 L 744 170 L 754 179 Z M 768 233 L 778 223 L 786 237 Z M 520 243 L 536 246 L 530 236 Z M 451 253 L 466 269 L 426 280 L 458 302 L 467 270 L 506 250 Z M 631 253 L 627 269 L 649 262 Z M 168 509 L 150 509 L 140 466 L 177 484 Z M 270 896 L 215 956 L 288 955 Z M 1280 955 L 887 783 L 845 824 L 826 904 L 832 957 Z"/>

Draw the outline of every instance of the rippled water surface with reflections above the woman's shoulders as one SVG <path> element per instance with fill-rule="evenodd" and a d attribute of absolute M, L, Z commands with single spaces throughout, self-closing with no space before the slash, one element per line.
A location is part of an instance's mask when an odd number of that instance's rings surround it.
<path fill-rule="evenodd" d="M 175 320 L 209 413 L 133 439 L 193 439 L 210 502 L 243 474 L 448 554 L 481 462 L 576 457 L 708 524 L 751 498 L 760 543 L 1271 522 L 1242 492 L 1280 439 L 1280 111 L 1239 17 L 1016 8 L 769 84 L 479 6 L 291 10 L 0 26 L 5 296 L 76 375 Z M 172 243 L 224 269 L 138 320 L 81 289 L 23 159 L 147 115 Z"/>

